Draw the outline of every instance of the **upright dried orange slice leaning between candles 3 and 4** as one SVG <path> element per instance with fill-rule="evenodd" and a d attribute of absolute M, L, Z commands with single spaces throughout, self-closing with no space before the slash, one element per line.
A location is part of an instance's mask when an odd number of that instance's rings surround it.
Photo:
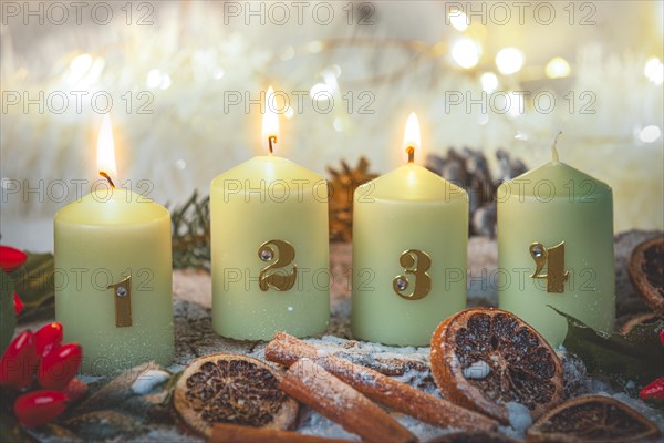
<path fill-rule="evenodd" d="M 509 423 L 509 403 L 539 418 L 563 398 L 562 364 L 523 320 L 499 309 L 460 311 L 432 338 L 432 372 L 443 395 Z"/>

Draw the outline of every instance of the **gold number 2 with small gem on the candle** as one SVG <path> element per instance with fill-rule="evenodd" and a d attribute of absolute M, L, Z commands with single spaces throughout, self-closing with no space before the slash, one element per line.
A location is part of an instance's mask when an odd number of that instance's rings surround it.
<path fill-rule="evenodd" d="M 270 264 L 260 271 L 258 277 L 260 290 L 267 291 L 272 288 L 278 291 L 287 291 L 295 285 L 298 265 L 293 262 L 295 259 L 293 245 L 284 240 L 266 241 L 258 248 L 258 257 Z M 284 274 L 284 268 L 290 265 L 293 266 L 292 271 Z"/>

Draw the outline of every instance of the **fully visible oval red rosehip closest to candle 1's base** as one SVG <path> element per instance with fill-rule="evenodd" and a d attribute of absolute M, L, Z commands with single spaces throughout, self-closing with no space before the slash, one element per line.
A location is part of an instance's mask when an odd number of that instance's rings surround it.
<path fill-rule="evenodd" d="M 37 380 L 44 389 L 62 391 L 76 375 L 83 351 L 76 343 L 69 343 L 42 358 Z"/>

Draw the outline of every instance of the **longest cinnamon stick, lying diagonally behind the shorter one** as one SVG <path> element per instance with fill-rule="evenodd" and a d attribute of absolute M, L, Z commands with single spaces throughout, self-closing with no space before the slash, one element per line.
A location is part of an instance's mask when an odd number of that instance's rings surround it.
<path fill-rule="evenodd" d="M 283 332 L 278 332 L 268 343 L 266 358 L 287 367 L 294 364 L 300 358 L 314 360 L 371 400 L 436 426 L 490 431 L 498 425 L 492 419 L 429 395 L 373 369 L 334 356 L 319 357 L 315 347 Z"/>

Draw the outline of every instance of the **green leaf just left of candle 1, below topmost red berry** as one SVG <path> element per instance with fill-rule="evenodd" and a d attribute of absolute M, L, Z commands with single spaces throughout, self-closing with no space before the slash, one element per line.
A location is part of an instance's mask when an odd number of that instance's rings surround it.
<path fill-rule="evenodd" d="M 28 259 L 19 269 L 12 272 L 15 280 L 15 291 L 23 300 L 29 315 L 54 297 L 53 271 L 54 261 L 52 254 L 27 253 Z"/>

